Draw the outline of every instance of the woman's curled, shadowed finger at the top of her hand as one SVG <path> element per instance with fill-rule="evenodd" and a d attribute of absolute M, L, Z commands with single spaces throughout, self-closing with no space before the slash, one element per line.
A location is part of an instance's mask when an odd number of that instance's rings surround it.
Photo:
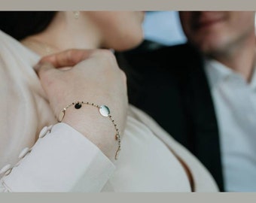
<path fill-rule="evenodd" d="M 45 56 L 40 62 L 50 62 L 56 68 L 74 66 L 78 64 L 78 62 L 89 58 L 91 53 L 93 53 L 93 50 L 66 50 L 50 56 Z"/>

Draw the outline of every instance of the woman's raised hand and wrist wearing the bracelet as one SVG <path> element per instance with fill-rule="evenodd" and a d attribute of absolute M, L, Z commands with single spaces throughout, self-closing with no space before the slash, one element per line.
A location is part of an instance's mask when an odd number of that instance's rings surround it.
<path fill-rule="evenodd" d="M 128 105 L 126 77 L 111 51 L 67 50 L 44 57 L 35 70 L 56 117 L 72 102 L 107 105 L 122 134 Z M 85 135 L 106 156 L 114 157 L 114 126 L 97 108 L 83 105 L 77 110 L 72 106 L 62 122 Z"/>

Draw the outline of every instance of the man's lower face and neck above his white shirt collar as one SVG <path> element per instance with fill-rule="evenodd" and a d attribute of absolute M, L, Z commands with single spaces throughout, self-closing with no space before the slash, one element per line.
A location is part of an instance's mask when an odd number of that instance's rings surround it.
<path fill-rule="evenodd" d="M 250 80 L 255 59 L 254 12 L 182 11 L 179 15 L 190 44 Z"/>

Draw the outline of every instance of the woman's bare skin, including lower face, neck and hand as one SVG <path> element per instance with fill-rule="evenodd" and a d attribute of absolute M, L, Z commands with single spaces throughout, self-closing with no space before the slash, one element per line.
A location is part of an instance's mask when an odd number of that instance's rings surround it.
<path fill-rule="evenodd" d="M 123 134 L 128 106 L 126 77 L 113 53 L 99 48 L 127 50 L 137 46 L 143 38 L 143 17 L 141 12 L 94 11 L 81 12 L 75 19 L 72 12 L 58 12 L 44 32 L 22 41 L 45 56 L 35 71 L 56 117 L 72 102 L 107 105 Z M 53 55 L 46 56 L 45 46 Z M 62 122 L 81 132 L 114 161 L 114 126 L 96 108 L 69 108 Z"/>

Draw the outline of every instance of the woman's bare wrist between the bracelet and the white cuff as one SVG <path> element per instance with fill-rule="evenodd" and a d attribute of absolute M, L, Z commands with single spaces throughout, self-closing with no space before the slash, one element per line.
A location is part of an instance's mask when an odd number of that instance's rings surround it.
<path fill-rule="evenodd" d="M 62 123 L 81 132 L 108 158 L 112 159 L 113 156 L 116 158 L 115 153 L 120 148 L 120 139 L 118 140 L 116 137 L 119 130 L 117 125 L 111 122 L 109 117 L 103 117 L 97 105 L 81 104 L 81 107 L 79 105 L 78 102 L 68 105 L 69 108 L 66 108 Z M 118 135 L 120 134 L 118 133 Z"/>

